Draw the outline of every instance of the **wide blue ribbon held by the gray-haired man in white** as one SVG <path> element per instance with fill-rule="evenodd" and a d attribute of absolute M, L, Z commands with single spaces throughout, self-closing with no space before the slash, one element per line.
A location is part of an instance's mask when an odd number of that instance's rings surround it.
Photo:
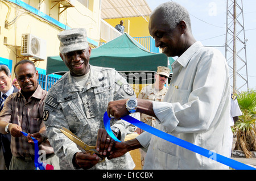
<path fill-rule="evenodd" d="M 109 136 L 112 137 L 115 141 L 121 142 L 120 140 L 117 139 L 117 137 L 115 137 L 115 135 L 113 134 L 111 128 L 110 128 L 110 117 L 108 116 L 108 113 L 105 112 L 104 114 L 104 126 L 106 131 L 108 132 Z M 127 116 L 123 116 L 121 117 L 122 120 L 125 120 L 141 129 L 143 129 L 144 131 L 147 131 L 148 133 L 154 134 L 155 136 L 158 136 L 166 141 L 172 142 L 173 144 L 176 144 L 178 146 L 181 146 L 185 149 L 191 150 L 195 153 L 198 153 L 200 155 L 203 155 L 204 157 L 210 158 L 212 157 L 212 151 L 209 151 L 207 149 L 201 148 L 200 146 L 197 145 L 193 145 L 190 142 L 181 140 L 180 138 L 177 138 L 175 136 L 172 136 L 171 134 L 167 134 L 165 132 L 162 132 L 156 128 L 151 127 L 150 125 L 147 125 L 145 123 L 143 123 L 142 121 L 139 121 L 137 119 L 135 119 L 134 117 L 131 117 L 129 115 Z M 216 157 L 214 157 L 214 160 L 217 162 L 220 162 L 226 166 L 232 167 L 233 169 L 237 169 L 237 170 L 256 170 L 254 167 L 245 165 L 241 162 L 235 161 L 234 159 L 228 158 L 228 157 L 224 157 L 223 155 L 216 154 Z M 216 158 L 216 159 L 215 159 Z M 212 159 L 212 158 L 210 158 Z"/>

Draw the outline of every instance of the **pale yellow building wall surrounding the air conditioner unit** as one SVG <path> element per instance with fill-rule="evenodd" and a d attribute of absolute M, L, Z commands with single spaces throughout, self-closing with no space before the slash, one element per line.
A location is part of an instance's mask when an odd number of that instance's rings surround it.
<path fill-rule="evenodd" d="M 55 3 L 52 3 L 51 0 L 41 1 L 40 7 L 38 7 L 39 1 L 24 0 L 23 2 L 35 9 L 40 9 L 44 14 L 59 20 L 60 23 L 68 27 L 86 28 L 87 35 L 91 40 L 100 41 L 100 1 L 91 0 L 90 10 L 81 5 L 80 2 L 75 1 L 75 7 L 69 7 L 60 16 L 59 5 L 54 6 Z M 60 11 L 62 10 L 60 9 Z M 36 67 L 46 69 L 47 57 L 59 54 L 60 42 L 57 39 L 57 33 L 63 31 L 63 29 L 40 18 L 38 15 L 24 10 L 22 7 L 15 5 L 15 3 L 0 0 L 0 12 L 0 57 L 13 60 L 14 68 L 16 62 L 21 60 L 17 56 L 22 56 L 20 54 L 22 33 L 31 33 L 40 39 L 46 40 L 46 59 L 35 62 Z M 6 27 L 5 22 L 11 24 Z M 14 78 L 13 71 L 12 78 Z"/>

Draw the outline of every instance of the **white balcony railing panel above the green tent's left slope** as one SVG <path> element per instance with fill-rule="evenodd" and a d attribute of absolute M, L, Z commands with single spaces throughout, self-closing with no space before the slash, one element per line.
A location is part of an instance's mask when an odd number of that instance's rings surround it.
<path fill-rule="evenodd" d="M 109 23 L 105 22 L 105 20 L 101 19 L 101 39 L 108 42 L 116 37 L 122 35 L 121 32 L 115 30 Z"/>

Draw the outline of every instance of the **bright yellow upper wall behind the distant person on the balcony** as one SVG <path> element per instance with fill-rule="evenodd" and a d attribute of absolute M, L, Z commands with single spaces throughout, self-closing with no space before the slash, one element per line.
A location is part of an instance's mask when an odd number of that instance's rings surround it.
<path fill-rule="evenodd" d="M 146 18 L 146 20 L 144 19 Z M 115 27 L 117 24 L 120 23 L 121 20 L 123 20 L 123 26 L 125 26 L 125 29 L 127 28 L 127 20 L 130 20 L 130 32 L 129 35 L 132 37 L 138 37 L 138 36 L 150 36 L 150 33 L 148 32 L 148 20 L 149 16 L 143 17 L 133 17 L 133 18 L 119 18 L 119 19 L 104 19 L 106 22 L 108 22 L 110 25 Z M 125 30 L 125 32 L 127 32 Z"/>

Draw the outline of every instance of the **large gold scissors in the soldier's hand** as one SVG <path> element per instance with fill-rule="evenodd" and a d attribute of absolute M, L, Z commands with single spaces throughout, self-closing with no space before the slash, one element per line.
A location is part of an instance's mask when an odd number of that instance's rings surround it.
<path fill-rule="evenodd" d="M 63 132 L 63 134 L 65 134 L 65 136 L 67 136 L 70 140 L 75 142 L 75 144 L 79 145 L 86 152 L 90 153 L 91 155 L 95 153 L 99 157 L 101 157 L 102 160 L 100 162 L 105 161 L 105 158 L 102 157 L 102 155 L 100 155 L 98 152 L 94 151 L 96 149 L 96 146 L 89 146 L 89 145 L 85 144 L 84 141 L 82 141 L 79 137 L 76 136 L 76 134 L 72 133 L 67 128 L 62 127 L 62 129 L 60 129 L 60 131 Z"/>

